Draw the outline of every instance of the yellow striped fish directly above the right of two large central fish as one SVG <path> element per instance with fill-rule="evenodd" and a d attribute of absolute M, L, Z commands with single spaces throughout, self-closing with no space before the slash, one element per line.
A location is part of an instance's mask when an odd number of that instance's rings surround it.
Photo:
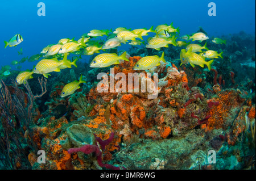
<path fill-rule="evenodd" d="M 154 37 L 148 41 L 146 48 L 154 48 L 156 50 L 160 50 L 161 47 L 168 47 L 168 44 L 176 46 L 176 39 L 177 37 L 175 36 L 172 36 L 171 39 L 164 37 Z"/>

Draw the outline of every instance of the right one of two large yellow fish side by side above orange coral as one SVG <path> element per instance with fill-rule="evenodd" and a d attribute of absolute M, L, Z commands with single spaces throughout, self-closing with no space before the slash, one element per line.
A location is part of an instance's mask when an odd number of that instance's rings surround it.
<path fill-rule="evenodd" d="M 139 59 L 139 61 L 134 65 L 134 70 L 147 70 L 151 69 L 154 66 L 160 65 L 160 61 L 163 61 L 164 63 L 166 60 L 164 60 L 164 52 L 162 53 L 161 57 L 155 56 L 147 56 L 142 57 Z"/>

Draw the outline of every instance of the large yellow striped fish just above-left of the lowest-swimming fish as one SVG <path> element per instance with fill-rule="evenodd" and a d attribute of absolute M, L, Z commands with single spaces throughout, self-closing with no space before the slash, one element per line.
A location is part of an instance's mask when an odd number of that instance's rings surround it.
<path fill-rule="evenodd" d="M 71 64 L 67 61 L 67 56 L 64 56 L 63 60 L 57 60 L 57 58 L 43 59 L 36 64 L 34 68 L 34 73 L 43 74 L 44 77 L 48 78 L 49 72 L 60 71 L 60 66 L 64 65 L 67 68 L 71 68 Z"/>

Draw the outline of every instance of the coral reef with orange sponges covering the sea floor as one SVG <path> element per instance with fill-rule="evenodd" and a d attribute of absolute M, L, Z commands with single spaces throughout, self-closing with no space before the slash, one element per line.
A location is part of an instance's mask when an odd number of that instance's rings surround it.
<path fill-rule="evenodd" d="M 224 52 L 210 70 L 179 66 L 179 47 L 133 47 L 129 61 L 109 68 L 79 63 L 47 85 L 39 79 L 42 92 L 33 80 L 20 87 L 2 81 L 1 168 L 255 169 L 255 37 L 242 33 L 226 39 L 226 45 L 207 44 Z M 162 52 L 166 62 L 133 69 L 142 57 Z M 106 79 L 96 79 L 98 73 Z M 81 74 L 86 83 L 61 98 L 64 85 Z M 46 153 L 46 163 L 38 162 L 38 150 Z M 215 151 L 216 164 L 208 163 L 209 150 Z"/>

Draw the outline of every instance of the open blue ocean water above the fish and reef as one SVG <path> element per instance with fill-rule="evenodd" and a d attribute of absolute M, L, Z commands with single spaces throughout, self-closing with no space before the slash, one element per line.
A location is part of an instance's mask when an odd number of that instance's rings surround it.
<path fill-rule="evenodd" d="M 38 16 L 38 3 L 46 5 L 46 16 Z M 216 4 L 216 16 L 209 16 L 208 4 Z M 150 28 L 159 24 L 174 23 L 180 28 L 180 35 L 194 33 L 203 27 L 209 36 L 228 35 L 229 33 L 255 34 L 255 1 L 251 0 L 214 0 L 214 1 L 2 1 L 0 6 L 0 63 L 11 65 L 30 57 L 49 44 L 56 44 L 62 38 L 79 39 L 83 33 L 97 29 Z M 7 47 L 16 33 L 24 41 L 16 47 Z M 104 39 L 105 37 L 103 37 Z M 127 49 L 130 45 L 123 45 Z M 18 51 L 23 49 L 23 55 Z M 85 56 L 84 56 L 85 57 Z M 89 56 L 88 56 L 89 57 Z M 87 57 L 87 59 L 88 59 Z M 85 57 L 86 59 L 86 57 Z M 25 62 L 22 70 L 32 69 L 35 62 Z M 12 66 L 13 69 L 15 69 Z"/>

